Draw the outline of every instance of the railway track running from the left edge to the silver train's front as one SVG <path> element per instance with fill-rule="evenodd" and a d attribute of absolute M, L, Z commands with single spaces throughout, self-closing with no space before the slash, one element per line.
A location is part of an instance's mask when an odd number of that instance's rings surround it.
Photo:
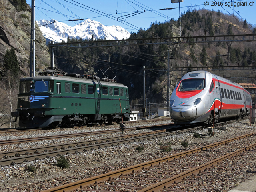
<path fill-rule="evenodd" d="M 188 128 L 185 130 L 180 130 L 179 133 L 189 132 L 196 129 L 197 128 Z M 53 157 L 53 156 L 57 156 L 58 154 L 78 153 L 78 152 L 95 150 L 95 149 L 119 145 L 119 144 L 126 144 L 130 142 L 160 138 L 160 137 L 165 137 L 165 136 L 174 135 L 174 134 L 177 134 L 176 130 L 167 131 L 167 129 L 165 129 L 165 130 L 157 130 L 152 132 L 116 136 L 112 138 L 100 138 L 97 140 L 87 140 L 82 142 L 73 142 L 73 143 L 59 144 L 59 145 L 52 145 L 52 146 L 42 146 L 42 147 L 30 148 L 30 149 L 6 151 L 6 152 L 0 153 L 0 158 L 3 158 L 0 160 L 0 165 L 6 166 L 13 163 L 21 163 L 23 161 L 32 161 L 32 160 L 38 160 L 42 158 Z M 9 158 L 10 156 L 14 156 L 14 157 Z"/>

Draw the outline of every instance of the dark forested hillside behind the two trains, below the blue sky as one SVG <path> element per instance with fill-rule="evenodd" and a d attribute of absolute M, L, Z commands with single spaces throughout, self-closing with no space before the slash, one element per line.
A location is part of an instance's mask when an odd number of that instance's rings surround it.
<path fill-rule="evenodd" d="M 252 24 L 240 20 L 236 16 L 229 16 L 218 11 L 188 10 L 181 16 L 182 36 L 213 36 L 226 34 L 252 34 L 256 29 Z M 164 38 L 179 36 L 179 20 L 164 23 L 152 22 L 148 29 L 140 29 L 132 33 L 133 38 Z M 77 40 L 68 40 L 73 42 Z M 80 40 L 79 40 L 80 41 Z M 87 41 L 84 41 L 86 43 Z M 118 46 L 112 48 L 65 48 L 56 47 L 55 57 L 57 66 L 68 72 L 94 74 L 102 67 L 112 67 L 118 82 L 124 83 L 130 89 L 131 100 L 136 104 L 142 102 L 142 66 L 146 68 L 167 67 L 167 51 L 173 57 L 175 46 L 170 45 L 144 45 L 144 46 Z M 108 60 L 109 53 L 110 62 Z M 170 60 L 173 67 L 192 66 L 236 66 L 255 65 L 255 42 L 234 42 L 231 46 L 230 58 L 227 56 L 226 42 L 180 44 L 176 49 L 176 60 Z M 186 73 L 184 71 L 183 73 Z M 215 74 L 225 77 L 254 77 L 254 72 L 214 71 Z M 98 76 L 101 74 L 99 73 Z M 181 72 L 171 72 L 170 91 L 174 89 L 181 77 Z M 234 80 L 237 82 L 237 79 Z M 239 78 L 240 82 L 247 79 Z M 165 71 L 146 70 L 146 98 L 150 102 L 162 102 L 166 97 L 167 74 Z"/>

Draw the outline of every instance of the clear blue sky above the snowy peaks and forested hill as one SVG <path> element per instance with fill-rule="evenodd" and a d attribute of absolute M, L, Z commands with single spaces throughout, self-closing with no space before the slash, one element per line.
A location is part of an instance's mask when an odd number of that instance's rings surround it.
<path fill-rule="evenodd" d="M 27 0 L 27 3 L 31 5 L 31 0 Z M 68 20 L 90 18 L 106 26 L 122 26 L 128 32 L 147 29 L 154 21 L 164 22 L 179 17 L 178 8 L 160 10 L 179 7 L 179 3 L 171 3 L 171 0 L 35 0 L 35 5 L 36 20 L 55 19 L 74 26 L 82 20 Z M 186 12 L 189 8 L 220 10 L 242 20 L 246 19 L 252 26 L 256 24 L 256 0 L 184 0 L 180 3 L 180 8 L 181 12 Z"/>

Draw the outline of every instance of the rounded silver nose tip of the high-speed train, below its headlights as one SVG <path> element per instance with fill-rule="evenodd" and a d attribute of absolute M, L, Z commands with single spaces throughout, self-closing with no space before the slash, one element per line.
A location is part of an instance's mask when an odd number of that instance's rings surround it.
<path fill-rule="evenodd" d="M 178 106 L 170 110 L 172 119 L 176 121 L 187 121 L 196 117 L 197 110 L 195 106 Z"/>

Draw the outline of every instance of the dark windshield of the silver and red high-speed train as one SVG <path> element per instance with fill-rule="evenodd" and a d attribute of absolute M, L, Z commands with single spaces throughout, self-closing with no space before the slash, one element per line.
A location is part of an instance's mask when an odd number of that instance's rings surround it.
<path fill-rule="evenodd" d="M 194 78 L 194 79 L 184 79 L 180 82 L 178 91 L 196 91 L 204 89 L 204 79 Z"/>

